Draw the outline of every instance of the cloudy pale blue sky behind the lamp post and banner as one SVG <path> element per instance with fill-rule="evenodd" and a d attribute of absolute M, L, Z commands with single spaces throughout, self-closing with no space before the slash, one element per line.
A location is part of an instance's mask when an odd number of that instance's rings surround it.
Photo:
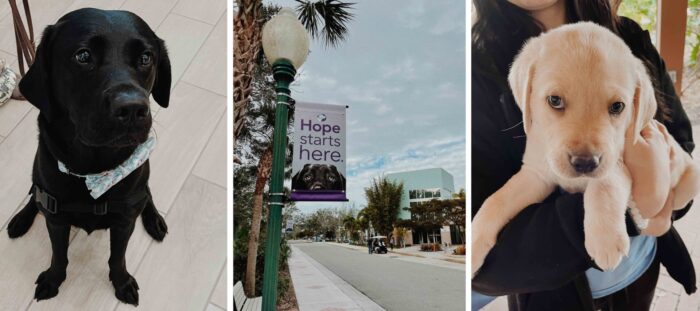
<path fill-rule="evenodd" d="M 364 188 L 387 173 L 441 167 L 465 185 L 465 1 L 356 2 L 346 41 L 312 40 L 292 84 L 297 101 L 347 105 L 347 192 L 366 204 Z M 264 3 L 295 7 L 293 0 Z"/>

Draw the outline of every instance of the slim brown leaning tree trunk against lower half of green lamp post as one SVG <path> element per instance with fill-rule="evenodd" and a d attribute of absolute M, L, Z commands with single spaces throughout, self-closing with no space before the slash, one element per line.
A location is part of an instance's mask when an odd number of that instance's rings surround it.
<path fill-rule="evenodd" d="M 248 258 L 246 261 L 245 292 L 248 297 L 255 296 L 255 275 L 258 263 L 258 238 L 260 237 L 260 220 L 262 219 L 263 193 L 272 170 L 272 143 L 265 149 L 258 160 L 258 169 L 253 192 L 253 220 L 248 236 Z"/>

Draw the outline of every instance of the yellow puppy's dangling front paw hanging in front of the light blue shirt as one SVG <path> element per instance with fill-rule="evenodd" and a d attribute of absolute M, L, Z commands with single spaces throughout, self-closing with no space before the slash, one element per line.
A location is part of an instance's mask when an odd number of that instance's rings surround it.
<path fill-rule="evenodd" d="M 586 251 L 596 265 L 603 271 L 615 269 L 623 256 L 627 256 L 630 240 L 626 234 L 588 235 L 586 234 Z"/>

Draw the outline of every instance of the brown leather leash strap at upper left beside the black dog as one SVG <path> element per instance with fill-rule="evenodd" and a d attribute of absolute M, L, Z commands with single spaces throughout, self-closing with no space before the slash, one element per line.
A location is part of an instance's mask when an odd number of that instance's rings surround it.
<path fill-rule="evenodd" d="M 17 45 L 17 60 L 19 61 L 19 71 L 24 77 L 24 64 L 27 68 L 34 63 L 36 47 L 34 45 L 34 26 L 32 24 L 32 13 L 29 11 L 29 0 L 22 0 L 24 15 L 27 19 L 28 30 L 24 27 L 22 15 L 17 8 L 16 0 L 8 0 L 12 11 L 12 20 L 15 26 L 15 43 Z"/>

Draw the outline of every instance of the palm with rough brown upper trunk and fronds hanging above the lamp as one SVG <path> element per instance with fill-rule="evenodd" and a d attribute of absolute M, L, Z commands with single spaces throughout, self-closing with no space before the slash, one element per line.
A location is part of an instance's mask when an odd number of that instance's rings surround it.
<path fill-rule="evenodd" d="M 337 47 L 347 38 L 347 23 L 354 3 L 339 0 L 296 0 L 299 20 L 314 39 Z M 262 0 L 236 0 L 233 20 L 233 147 L 245 126 L 255 60 L 262 46 L 262 25 L 267 21 Z M 234 159 L 240 161 L 234 156 Z"/>

